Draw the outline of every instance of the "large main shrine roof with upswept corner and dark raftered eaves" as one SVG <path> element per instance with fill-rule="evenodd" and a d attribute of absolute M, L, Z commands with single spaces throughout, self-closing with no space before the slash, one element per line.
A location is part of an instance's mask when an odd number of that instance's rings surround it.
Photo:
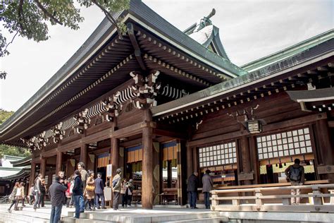
<path fill-rule="evenodd" d="M 147 70 L 187 85 L 192 92 L 247 73 L 175 28 L 142 1 L 113 13 L 132 23 Z M 128 35 L 119 38 L 104 19 L 66 64 L 0 126 L 0 143 L 24 144 L 29 138 L 73 115 L 101 95 L 130 80 L 130 71 L 141 71 Z"/>

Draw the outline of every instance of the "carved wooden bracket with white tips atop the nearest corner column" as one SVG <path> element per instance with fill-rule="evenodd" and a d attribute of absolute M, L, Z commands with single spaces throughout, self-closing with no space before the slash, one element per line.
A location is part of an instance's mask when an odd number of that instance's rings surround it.
<path fill-rule="evenodd" d="M 155 97 L 161 88 L 156 81 L 160 71 L 152 71 L 149 76 L 144 77 L 140 73 L 130 72 L 134 83 L 131 86 L 132 93 L 137 97 L 133 100 L 137 109 L 148 109 L 156 106 Z"/>

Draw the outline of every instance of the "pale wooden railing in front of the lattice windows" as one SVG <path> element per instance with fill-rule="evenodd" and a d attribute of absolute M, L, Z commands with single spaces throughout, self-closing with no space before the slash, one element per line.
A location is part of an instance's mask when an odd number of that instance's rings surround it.
<path fill-rule="evenodd" d="M 214 190 L 211 191 L 211 210 L 334 212 L 334 190 L 330 188 L 334 188 L 333 183 Z M 291 189 L 300 189 L 302 193 L 290 195 Z M 291 198 L 308 199 L 306 203 L 303 200 L 299 205 L 291 205 Z M 328 200 L 326 204 L 325 199 Z"/>

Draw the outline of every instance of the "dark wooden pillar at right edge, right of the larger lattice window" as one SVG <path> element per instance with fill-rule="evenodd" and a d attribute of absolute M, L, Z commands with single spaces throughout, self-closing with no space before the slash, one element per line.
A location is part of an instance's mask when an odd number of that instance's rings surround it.
<path fill-rule="evenodd" d="M 316 142 L 318 164 L 320 166 L 332 166 L 334 164 L 334 148 L 327 119 L 316 121 Z M 334 174 L 321 174 L 321 179 L 329 179 L 333 182 Z"/>

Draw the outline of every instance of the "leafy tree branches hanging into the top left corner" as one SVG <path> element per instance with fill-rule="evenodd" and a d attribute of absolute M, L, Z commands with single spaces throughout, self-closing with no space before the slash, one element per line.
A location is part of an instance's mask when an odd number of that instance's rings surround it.
<path fill-rule="evenodd" d="M 110 12 L 123 11 L 129 8 L 130 0 L 76 0 L 80 7 L 97 6 L 106 18 L 116 26 L 118 34 L 125 32 L 125 24 L 114 20 Z M 73 0 L 13 0 L 1 1 L 0 22 L 4 29 L 13 35 L 11 41 L 0 30 L 0 57 L 9 54 L 8 46 L 17 35 L 36 42 L 49 39 L 48 24 L 63 25 L 73 30 L 79 29 L 84 20 L 80 8 Z M 0 79 L 6 78 L 6 71 L 0 71 Z"/>

